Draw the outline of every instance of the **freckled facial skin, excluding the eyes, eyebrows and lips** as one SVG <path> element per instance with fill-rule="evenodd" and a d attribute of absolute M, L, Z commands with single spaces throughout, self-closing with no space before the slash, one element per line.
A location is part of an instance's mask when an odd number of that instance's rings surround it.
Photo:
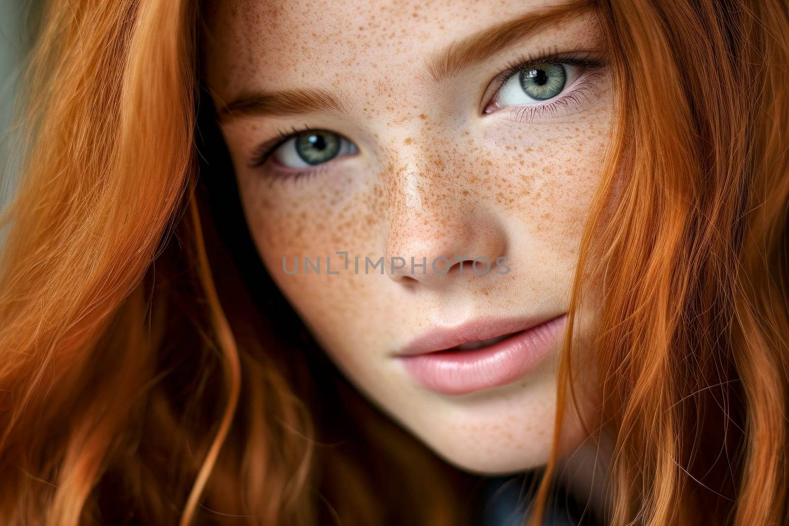
<path fill-rule="evenodd" d="M 581 230 L 611 127 L 608 74 L 552 114 L 484 114 L 492 79 L 523 54 L 600 49 L 591 18 L 545 28 L 436 84 L 424 61 L 454 39 L 552 0 L 498 2 L 211 2 L 204 59 L 215 102 L 254 89 L 320 88 L 342 112 L 245 116 L 222 124 L 241 201 L 267 269 L 355 385 L 447 460 L 514 472 L 548 458 L 559 348 L 519 381 L 463 396 L 417 385 L 391 352 L 437 325 L 567 311 Z M 257 145 L 293 127 L 331 130 L 358 152 L 282 178 L 249 167 Z M 350 254 L 349 270 L 336 251 Z M 282 257 L 321 258 L 321 274 Z M 325 258 L 332 271 L 326 274 Z M 360 273 L 353 273 L 353 257 Z M 372 261 L 428 258 L 427 274 Z M 442 275 L 434 257 L 508 257 L 510 272 Z M 456 261 L 453 261 L 456 263 Z M 300 265 L 302 261 L 300 261 Z M 594 313 L 581 310 L 578 344 Z M 582 351 L 582 349 L 581 349 Z M 563 450 L 581 441 L 570 415 Z"/>

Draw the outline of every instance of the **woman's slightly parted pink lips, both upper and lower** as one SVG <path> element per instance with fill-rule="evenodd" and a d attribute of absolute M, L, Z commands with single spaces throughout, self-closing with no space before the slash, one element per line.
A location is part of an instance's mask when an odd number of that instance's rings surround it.
<path fill-rule="evenodd" d="M 477 320 L 451 329 L 438 329 L 413 340 L 398 359 L 423 387 L 437 393 L 460 395 L 506 385 L 522 378 L 548 355 L 559 340 L 567 314 L 533 321 Z M 507 338 L 472 350 L 457 345 Z"/>

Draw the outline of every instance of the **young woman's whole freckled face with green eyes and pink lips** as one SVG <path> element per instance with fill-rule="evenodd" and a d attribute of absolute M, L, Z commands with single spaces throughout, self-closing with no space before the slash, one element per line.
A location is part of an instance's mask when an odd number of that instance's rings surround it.
<path fill-rule="evenodd" d="M 363 393 L 476 472 L 548 458 L 562 315 L 609 140 L 603 35 L 578 7 L 547 21 L 557 6 L 204 12 L 208 85 L 268 271 Z M 594 314 L 580 314 L 582 349 Z"/>

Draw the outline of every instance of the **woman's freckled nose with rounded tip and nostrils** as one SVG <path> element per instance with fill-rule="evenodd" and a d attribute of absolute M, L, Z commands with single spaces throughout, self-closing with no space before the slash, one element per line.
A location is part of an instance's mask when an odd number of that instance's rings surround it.
<path fill-rule="evenodd" d="M 418 158 L 403 161 L 397 180 L 387 184 L 390 278 L 442 287 L 505 273 L 507 236 L 495 210 L 460 190 L 457 177 L 436 178 L 424 169 Z"/>

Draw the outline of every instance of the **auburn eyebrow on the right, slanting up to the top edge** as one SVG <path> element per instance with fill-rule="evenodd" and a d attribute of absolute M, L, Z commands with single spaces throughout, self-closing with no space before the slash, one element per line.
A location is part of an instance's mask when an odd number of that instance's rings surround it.
<path fill-rule="evenodd" d="M 483 29 L 449 44 L 425 61 L 425 69 L 428 70 L 433 81 L 443 81 L 502 51 L 514 41 L 524 39 L 537 29 L 578 17 L 595 6 L 594 0 L 573 0 L 537 12 L 526 13 L 513 21 Z"/>

